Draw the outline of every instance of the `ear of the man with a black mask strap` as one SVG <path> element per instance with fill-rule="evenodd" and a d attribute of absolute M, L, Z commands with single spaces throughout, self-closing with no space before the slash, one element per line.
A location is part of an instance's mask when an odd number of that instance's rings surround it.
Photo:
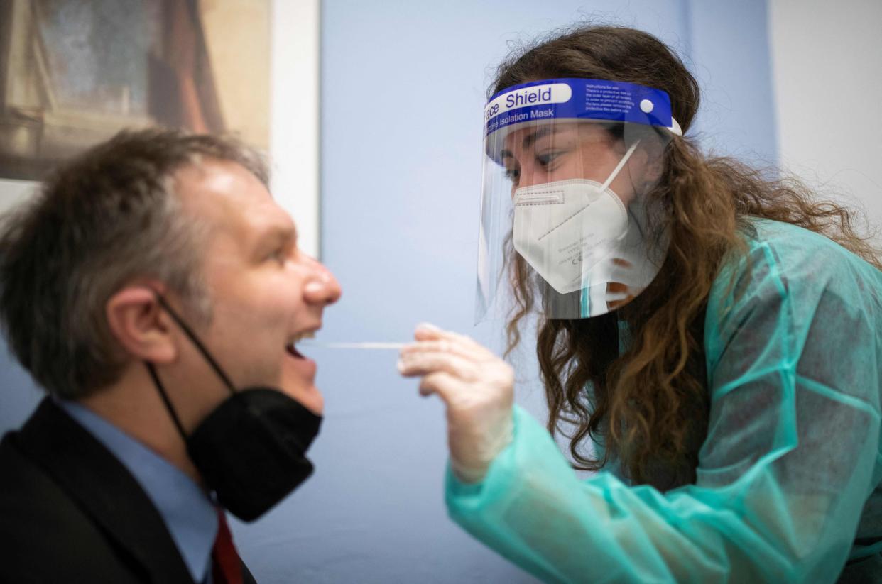
<path fill-rule="evenodd" d="M 177 347 L 168 314 L 146 286 L 127 286 L 105 306 L 110 332 L 133 358 L 151 363 L 171 363 Z"/>

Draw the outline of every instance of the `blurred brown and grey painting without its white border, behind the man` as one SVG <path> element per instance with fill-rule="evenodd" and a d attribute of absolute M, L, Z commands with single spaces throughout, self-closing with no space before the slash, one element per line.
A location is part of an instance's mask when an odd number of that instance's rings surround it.
<path fill-rule="evenodd" d="M 268 149 L 269 0 L 0 0 L 0 23 L 2 178 L 39 181 L 123 128 Z"/>

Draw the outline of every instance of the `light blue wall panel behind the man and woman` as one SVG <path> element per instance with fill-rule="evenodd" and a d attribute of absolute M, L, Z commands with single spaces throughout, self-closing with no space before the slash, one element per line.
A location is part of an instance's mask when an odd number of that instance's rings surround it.
<path fill-rule="evenodd" d="M 774 159 L 764 0 L 327 0 L 321 242 L 343 298 L 320 340 L 404 340 L 429 321 L 500 347 L 502 322 L 472 325 L 486 85 L 508 41 L 586 17 L 673 45 L 705 85 L 703 141 Z M 309 352 L 326 403 L 317 473 L 258 523 L 234 526 L 258 581 L 534 581 L 447 519 L 444 411 L 399 379 L 394 351 Z M 532 350 L 520 355 L 519 401 L 542 416 Z M 5 429 L 37 393 L 2 367 Z"/>

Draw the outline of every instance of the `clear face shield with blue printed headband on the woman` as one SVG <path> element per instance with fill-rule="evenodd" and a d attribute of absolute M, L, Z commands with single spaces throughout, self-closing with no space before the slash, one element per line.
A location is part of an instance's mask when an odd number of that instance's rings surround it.
<path fill-rule="evenodd" d="M 475 317 L 516 291 L 551 319 L 606 314 L 667 251 L 647 208 L 680 128 L 668 94 L 596 79 L 514 85 L 484 109 Z"/>

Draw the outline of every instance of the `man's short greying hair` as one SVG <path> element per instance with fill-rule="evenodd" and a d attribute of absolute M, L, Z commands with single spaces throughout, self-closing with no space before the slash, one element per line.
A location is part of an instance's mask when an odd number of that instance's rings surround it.
<path fill-rule="evenodd" d="M 159 280 L 191 320 L 210 319 L 200 274 L 207 226 L 175 192 L 176 172 L 203 160 L 235 162 L 268 184 L 264 159 L 233 138 L 123 131 L 58 168 L 4 217 L 0 323 L 50 394 L 78 398 L 119 379 L 127 358 L 105 310 L 127 283 Z"/>

